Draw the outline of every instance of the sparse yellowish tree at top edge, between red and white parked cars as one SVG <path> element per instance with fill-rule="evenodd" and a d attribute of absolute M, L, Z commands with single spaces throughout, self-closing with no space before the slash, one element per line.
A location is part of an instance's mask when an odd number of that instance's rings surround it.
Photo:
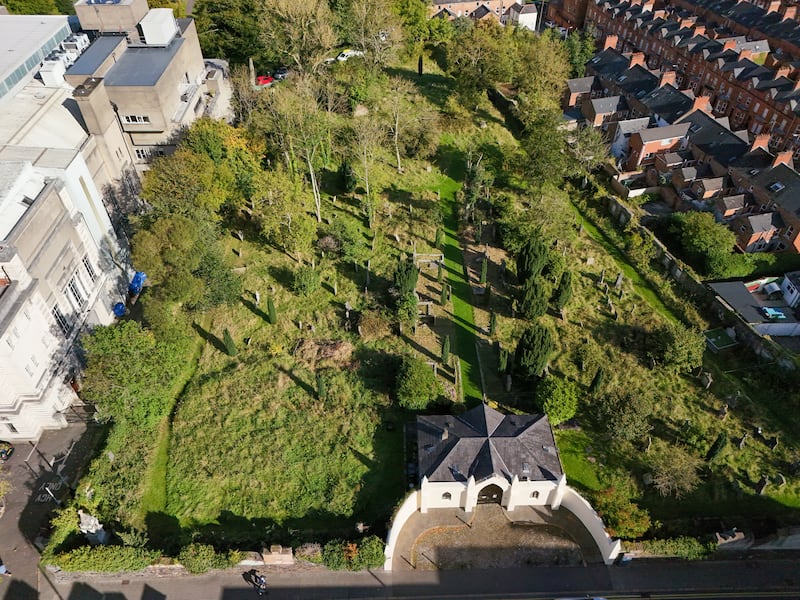
<path fill-rule="evenodd" d="M 327 0 L 262 0 L 259 13 L 266 46 L 301 75 L 318 73 L 339 43 Z"/>

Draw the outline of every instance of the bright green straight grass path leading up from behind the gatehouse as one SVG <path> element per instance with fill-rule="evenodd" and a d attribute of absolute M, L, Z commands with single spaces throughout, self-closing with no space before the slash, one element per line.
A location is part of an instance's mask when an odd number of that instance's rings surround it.
<path fill-rule="evenodd" d="M 444 215 L 444 263 L 447 269 L 447 282 L 453 290 L 453 317 L 455 320 L 455 348 L 461 361 L 461 381 L 464 390 L 464 402 L 468 405 L 480 402 L 481 374 L 478 366 L 478 354 L 475 350 L 475 313 L 472 310 L 472 290 L 464 277 L 464 254 L 458 237 L 458 205 L 455 191 L 459 185 L 440 190 L 442 196 L 442 212 Z"/>

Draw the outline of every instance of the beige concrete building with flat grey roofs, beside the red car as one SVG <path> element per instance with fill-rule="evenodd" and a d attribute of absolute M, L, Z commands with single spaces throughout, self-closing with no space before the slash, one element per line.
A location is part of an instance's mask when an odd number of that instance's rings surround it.
<path fill-rule="evenodd" d="M 88 130 L 113 155 L 119 140 L 139 171 L 172 152 L 181 130 L 215 109 L 222 70 L 206 63 L 192 19 L 146 0 L 79 0 L 75 11 L 96 36 L 67 70 Z"/>

